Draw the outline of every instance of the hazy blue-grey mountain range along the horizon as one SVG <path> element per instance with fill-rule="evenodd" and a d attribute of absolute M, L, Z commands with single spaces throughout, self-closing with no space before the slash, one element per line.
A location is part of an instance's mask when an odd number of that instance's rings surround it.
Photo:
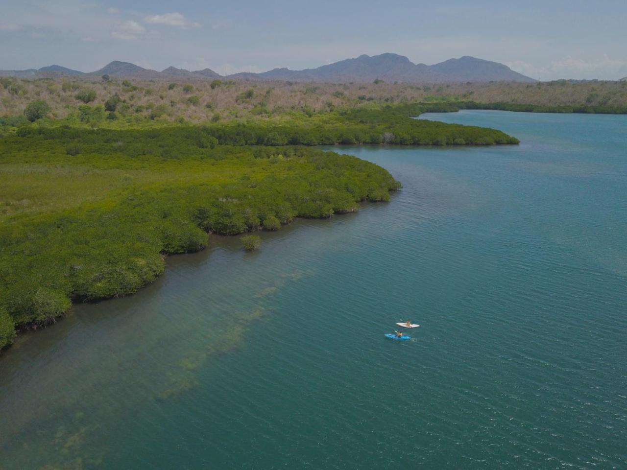
<path fill-rule="evenodd" d="M 82 72 L 60 65 L 50 65 L 40 69 L 0 70 L 0 76 L 38 78 L 46 76 L 124 76 L 144 79 L 216 79 L 232 78 L 239 80 L 279 80 L 279 81 L 356 81 L 376 80 L 401 81 L 404 83 L 440 83 L 460 81 L 535 81 L 510 69 L 507 65 L 470 56 L 449 59 L 435 65 L 414 64 L 405 56 L 384 53 L 377 56 L 361 55 L 354 59 L 341 60 L 329 65 L 305 70 L 275 68 L 262 73 L 235 73 L 221 76 L 209 68 L 189 71 L 168 67 L 162 71 L 150 70 L 129 62 L 113 61 L 100 70 Z"/>

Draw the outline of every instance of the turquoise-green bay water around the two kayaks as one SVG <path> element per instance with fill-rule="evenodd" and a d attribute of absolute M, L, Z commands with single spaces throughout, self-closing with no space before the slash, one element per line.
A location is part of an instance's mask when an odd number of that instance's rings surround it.
<path fill-rule="evenodd" d="M 404 189 L 23 335 L 0 469 L 627 467 L 627 116 L 428 117 L 522 144 L 347 147 Z"/>

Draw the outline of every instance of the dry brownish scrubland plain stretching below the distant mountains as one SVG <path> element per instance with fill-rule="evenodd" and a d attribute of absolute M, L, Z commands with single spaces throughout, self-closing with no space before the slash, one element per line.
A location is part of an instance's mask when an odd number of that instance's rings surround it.
<path fill-rule="evenodd" d="M 102 107 L 112 120 L 191 122 L 328 112 L 366 103 L 473 101 L 545 107 L 627 107 L 627 81 L 537 83 L 293 83 L 290 81 L 155 81 L 0 77 L 0 117 L 23 116 L 43 100 L 48 116 L 78 121 L 80 107 Z M 109 113 L 114 113 L 110 115 Z"/>

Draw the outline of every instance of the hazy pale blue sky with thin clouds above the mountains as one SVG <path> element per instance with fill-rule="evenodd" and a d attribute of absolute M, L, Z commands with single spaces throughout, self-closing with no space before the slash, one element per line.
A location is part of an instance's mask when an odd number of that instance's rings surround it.
<path fill-rule="evenodd" d="M 392 52 L 539 80 L 627 76 L 627 0 L 0 0 L 0 70 L 112 60 L 222 75 Z"/>

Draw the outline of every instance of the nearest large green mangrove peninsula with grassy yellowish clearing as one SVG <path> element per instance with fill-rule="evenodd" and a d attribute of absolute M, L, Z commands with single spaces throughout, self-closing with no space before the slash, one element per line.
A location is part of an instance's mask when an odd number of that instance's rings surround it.
<path fill-rule="evenodd" d="M 137 291 L 208 232 L 276 230 L 385 201 L 381 167 L 305 147 L 205 147 L 201 129 L 4 138 L 0 340 L 71 301 Z M 77 150 L 79 149 L 80 150 Z"/>

